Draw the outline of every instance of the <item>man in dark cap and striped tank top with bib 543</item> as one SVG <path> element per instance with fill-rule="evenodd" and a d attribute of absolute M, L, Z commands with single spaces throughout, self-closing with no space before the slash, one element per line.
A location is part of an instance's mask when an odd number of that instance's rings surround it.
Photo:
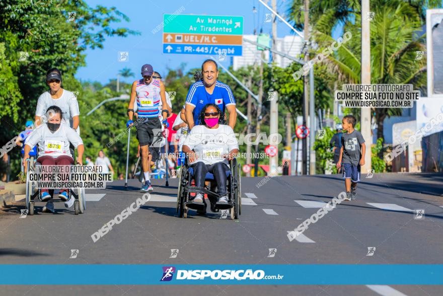
<path fill-rule="evenodd" d="M 135 127 L 137 139 L 141 150 L 141 168 L 143 171 L 144 183 L 141 186 L 142 191 L 153 191 L 149 175 L 149 146 L 157 136 L 154 133 L 162 129 L 162 123 L 168 126 L 167 117 L 171 108 L 166 102 L 165 85 L 162 81 L 153 79 L 153 67 L 149 64 L 141 67 L 140 80 L 132 83 L 131 98 L 127 114 L 129 117 L 126 123 L 127 127 L 133 125 L 134 103 L 137 103 L 138 123 Z M 159 121 L 160 102 L 162 102 L 163 121 Z"/>

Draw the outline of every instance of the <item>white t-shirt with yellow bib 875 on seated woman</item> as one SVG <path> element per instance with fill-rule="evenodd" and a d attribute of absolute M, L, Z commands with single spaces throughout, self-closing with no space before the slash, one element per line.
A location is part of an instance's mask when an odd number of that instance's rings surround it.
<path fill-rule="evenodd" d="M 34 129 L 26 139 L 25 145 L 34 147 L 38 144 L 38 157 L 45 155 L 54 158 L 60 155 L 72 157 L 69 151 L 69 142 L 76 148 L 83 144 L 82 138 L 77 132 L 66 124 L 62 123 L 54 133 L 48 129 L 46 124 L 43 124 Z"/>

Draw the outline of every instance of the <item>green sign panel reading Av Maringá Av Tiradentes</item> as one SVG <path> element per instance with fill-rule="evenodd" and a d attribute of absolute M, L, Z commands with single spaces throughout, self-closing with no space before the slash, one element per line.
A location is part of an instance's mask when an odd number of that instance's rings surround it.
<path fill-rule="evenodd" d="M 243 17 L 163 15 L 164 33 L 242 35 Z"/>

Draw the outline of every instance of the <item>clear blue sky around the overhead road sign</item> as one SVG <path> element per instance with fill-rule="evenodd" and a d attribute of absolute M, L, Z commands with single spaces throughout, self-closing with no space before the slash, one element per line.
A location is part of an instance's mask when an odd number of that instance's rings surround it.
<path fill-rule="evenodd" d="M 149 63 L 154 69 L 165 76 L 168 68 L 176 69 L 181 63 L 186 63 L 186 70 L 200 67 L 205 55 L 193 54 L 167 54 L 163 53 L 162 31 L 153 34 L 151 31 L 163 21 L 163 14 L 170 14 L 178 10 L 181 6 L 185 8 L 183 14 L 194 15 L 225 15 L 243 16 L 243 34 L 253 34 L 254 27 L 258 30 L 263 28 L 264 33 L 271 32 L 271 23 L 264 23 L 265 14 L 270 13 L 258 0 L 224 0 L 224 1 L 204 1 L 204 0 L 163 0 L 163 1 L 117 1 L 117 0 L 86 0 L 89 6 L 95 7 L 103 5 L 106 7 L 116 7 L 120 12 L 127 15 L 130 22 L 121 22 L 113 26 L 127 27 L 140 32 L 140 35 L 126 38 L 112 37 L 104 42 L 103 49 L 88 49 L 86 51 L 87 66 L 79 69 L 76 74 L 78 79 L 83 81 L 99 81 L 106 83 L 109 79 L 116 77 L 119 70 L 128 67 L 139 76 L 140 68 L 143 64 Z M 277 0 L 278 13 L 286 14 L 289 0 Z M 253 13 L 253 7 L 257 13 Z M 289 27 L 278 22 L 278 36 L 294 34 Z M 291 33 L 292 32 L 292 33 Z M 119 51 L 129 52 L 129 62 L 117 61 Z M 225 66 L 230 62 L 226 59 Z M 134 78 L 128 78 L 127 82 Z"/>

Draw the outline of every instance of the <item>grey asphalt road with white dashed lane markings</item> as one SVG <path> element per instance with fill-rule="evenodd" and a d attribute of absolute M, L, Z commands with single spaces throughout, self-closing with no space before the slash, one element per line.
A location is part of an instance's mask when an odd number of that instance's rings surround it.
<path fill-rule="evenodd" d="M 290 242 L 291 231 L 344 188 L 338 175 L 242 178 L 240 220 L 191 212 L 176 216 L 177 179 L 153 180 L 151 200 L 96 243 L 91 234 L 142 193 L 131 180 L 87 191 L 83 215 L 56 204 L 56 214 L 20 218 L 21 206 L 0 212 L 0 264 L 443 264 L 443 174 L 375 174 Z M 323 203 L 322 203 L 323 202 Z M 41 211 L 42 203 L 37 204 Z M 417 215 L 415 210 L 424 210 Z M 421 217 L 421 218 L 420 218 Z M 368 252 L 368 248 L 374 252 Z M 176 258 L 171 250 L 178 249 Z M 276 249 L 269 256 L 269 249 Z M 79 250 L 77 258 L 69 258 Z M 17 274 L 17 277 L 25 276 Z M 48 275 L 75 276 L 75 275 Z M 331 275 L 337 276 L 337 275 Z M 346 275 L 340 275 L 346 276 Z M 428 285 L 261 286 L 0 286 L 2 295 L 442 295 Z"/>

